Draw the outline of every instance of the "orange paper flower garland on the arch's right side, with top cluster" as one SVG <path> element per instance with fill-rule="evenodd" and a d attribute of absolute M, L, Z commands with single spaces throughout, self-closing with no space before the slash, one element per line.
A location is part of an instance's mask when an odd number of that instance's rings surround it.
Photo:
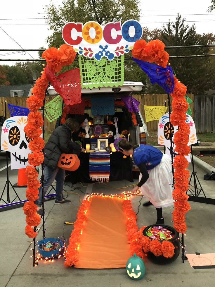
<path fill-rule="evenodd" d="M 132 55 L 133 57 L 148 61 L 150 63 L 155 62 L 157 65 L 166 67 L 169 54 L 164 51 L 165 45 L 160 40 L 153 40 L 148 43 L 145 40 L 138 40 L 135 42 Z M 175 210 L 173 211 L 174 228 L 180 233 L 185 233 L 187 226 L 185 223 L 185 213 L 190 209 L 190 204 L 187 202 L 189 198 L 186 195 L 188 190 L 188 178 L 189 171 L 188 161 L 185 159 L 185 155 L 189 155 L 190 147 L 188 147 L 190 128 L 186 123 L 185 112 L 188 109 L 188 103 L 185 99 L 187 88 L 180 83 L 176 77 L 174 77 L 174 90 L 171 94 L 172 100 L 172 113 L 170 115 L 170 121 L 174 126 L 178 126 L 179 130 L 174 135 L 175 151 L 178 155 L 174 157 L 174 178 L 175 185 L 173 191 L 173 198 Z M 145 244 L 147 239 L 145 239 Z"/>

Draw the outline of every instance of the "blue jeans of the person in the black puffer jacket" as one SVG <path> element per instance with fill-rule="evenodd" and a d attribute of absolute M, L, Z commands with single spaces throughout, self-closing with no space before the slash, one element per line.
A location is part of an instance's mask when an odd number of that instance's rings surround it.
<path fill-rule="evenodd" d="M 56 200 L 63 200 L 63 184 L 66 178 L 65 170 L 60 169 L 58 166 L 53 171 L 48 166 L 44 167 L 44 196 L 46 191 L 52 185 L 54 179 L 56 179 Z M 42 205 L 42 185 L 39 188 L 39 198 L 35 201 L 37 206 L 41 207 Z"/>

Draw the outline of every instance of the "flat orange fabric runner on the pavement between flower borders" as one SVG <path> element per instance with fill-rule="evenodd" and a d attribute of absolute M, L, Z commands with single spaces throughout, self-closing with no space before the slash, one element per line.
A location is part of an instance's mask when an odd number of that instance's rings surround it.
<path fill-rule="evenodd" d="M 104 269 L 125 267 L 130 257 L 121 198 L 92 197 L 74 267 Z"/>

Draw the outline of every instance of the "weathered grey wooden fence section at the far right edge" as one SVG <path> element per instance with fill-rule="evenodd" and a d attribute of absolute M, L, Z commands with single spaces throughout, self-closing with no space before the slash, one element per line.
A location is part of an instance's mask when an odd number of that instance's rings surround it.
<path fill-rule="evenodd" d="M 197 133 L 215 133 L 215 95 L 194 97 L 194 122 Z"/>

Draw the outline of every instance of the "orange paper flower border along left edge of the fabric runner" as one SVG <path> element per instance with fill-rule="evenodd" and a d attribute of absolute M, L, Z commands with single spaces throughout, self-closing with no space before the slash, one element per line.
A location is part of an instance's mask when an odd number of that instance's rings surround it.
<path fill-rule="evenodd" d="M 89 198 L 90 199 L 90 198 Z M 74 223 L 74 229 L 72 230 L 69 245 L 67 247 L 66 260 L 64 262 L 65 267 L 72 267 L 79 261 L 79 244 L 81 243 L 81 235 L 84 230 L 84 224 L 87 220 L 86 213 L 90 207 L 91 202 L 89 200 L 83 200 L 82 205 L 79 206 L 77 219 Z"/>

